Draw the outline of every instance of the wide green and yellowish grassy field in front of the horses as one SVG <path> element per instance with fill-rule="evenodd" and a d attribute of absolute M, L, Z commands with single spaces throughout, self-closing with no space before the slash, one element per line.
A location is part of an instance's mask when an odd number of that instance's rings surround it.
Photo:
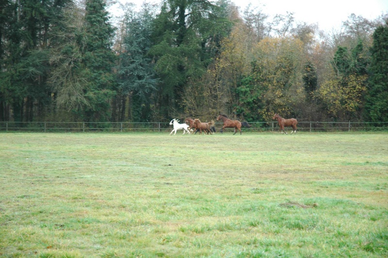
<path fill-rule="evenodd" d="M 1 257 L 388 257 L 388 133 L 0 133 Z"/>

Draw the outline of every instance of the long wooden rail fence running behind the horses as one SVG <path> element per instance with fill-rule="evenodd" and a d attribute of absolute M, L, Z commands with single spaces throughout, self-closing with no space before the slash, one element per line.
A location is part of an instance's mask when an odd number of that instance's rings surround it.
<path fill-rule="evenodd" d="M 279 130 L 277 122 L 252 122 L 250 128 L 244 131 L 276 131 Z M 222 123 L 216 123 L 217 131 Z M 133 132 L 133 131 L 171 131 L 172 126 L 164 122 L 0 122 L 0 131 L 40 131 L 40 132 Z M 232 129 L 231 129 L 232 130 Z M 287 129 L 286 129 L 287 130 Z M 291 129 L 288 129 L 291 130 Z M 386 131 L 388 123 L 370 122 L 298 122 L 298 131 Z"/>

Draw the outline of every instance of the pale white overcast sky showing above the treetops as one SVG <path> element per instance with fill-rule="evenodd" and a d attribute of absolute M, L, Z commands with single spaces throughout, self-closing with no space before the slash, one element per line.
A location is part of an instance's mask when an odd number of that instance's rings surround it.
<path fill-rule="evenodd" d="M 117 0 L 121 3 L 132 2 L 141 6 L 144 1 L 159 3 L 161 0 Z M 275 16 L 293 12 L 295 21 L 318 23 L 319 29 L 331 31 L 339 29 L 342 22 L 354 13 L 368 19 L 375 19 L 383 13 L 388 13 L 388 0 L 232 0 L 241 11 L 251 2 L 259 6 L 263 13 Z M 118 4 L 109 11 L 113 16 L 119 15 Z"/>

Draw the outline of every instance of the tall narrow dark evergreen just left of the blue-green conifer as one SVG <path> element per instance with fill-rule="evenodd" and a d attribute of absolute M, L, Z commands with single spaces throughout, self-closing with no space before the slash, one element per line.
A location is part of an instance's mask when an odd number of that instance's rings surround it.
<path fill-rule="evenodd" d="M 112 50 L 114 29 L 109 23 L 105 1 L 87 0 L 82 54 L 82 73 L 87 81 L 84 96 L 89 106 L 84 108 L 86 121 L 108 121 L 110 100 L 115 95 L 116 79 L 113 66 L 116 56 Z"/>

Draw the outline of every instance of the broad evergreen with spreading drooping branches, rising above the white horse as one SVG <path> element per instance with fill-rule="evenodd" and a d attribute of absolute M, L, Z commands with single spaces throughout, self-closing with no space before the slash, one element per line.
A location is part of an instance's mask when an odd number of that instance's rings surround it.
<path fill-rule="evenodd" d="M 204 74 L 231 23 L 210 1 L 165 0 L 153 27 L 150 54 L 162 79 L 159 106 L 181 111 L 186 85 Z"/>

